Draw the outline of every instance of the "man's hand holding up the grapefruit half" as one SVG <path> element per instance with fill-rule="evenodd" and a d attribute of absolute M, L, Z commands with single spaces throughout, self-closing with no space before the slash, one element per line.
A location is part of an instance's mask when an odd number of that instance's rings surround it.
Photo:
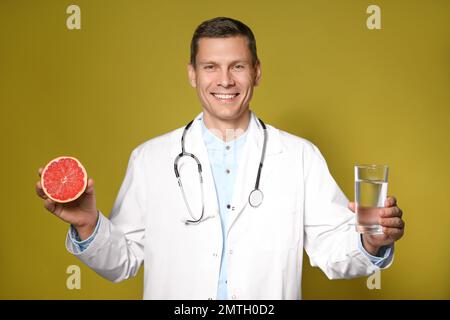
<path fill-rule="evenodd" d="M 42 171 L 43 168 L 39 168 L 39 177 L 41 177 Z M 36 194 L 44 199 L 44 207 L 48 211 L 74 226 L 81 240 L 87 239 L 94 232 L 98 219 L 98 211 L 95 204 L 93 179 L 88 179 L 84 193 L 72 202 L 58 203 L 48 198 L 42 189 L 40 180 L 36 183 Z"/>

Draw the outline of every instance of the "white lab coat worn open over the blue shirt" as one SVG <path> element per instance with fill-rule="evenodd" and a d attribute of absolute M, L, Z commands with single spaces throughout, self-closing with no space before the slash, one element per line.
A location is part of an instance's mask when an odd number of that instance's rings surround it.
<path fill-rule="evenodd" d="M 98 234 L 82 253 L 69 236 L 67 249 L 99 275 L 119 282 L 144 263 L 144 299 L 215 299 L 222 230 L 213 176 L 197 116 L 186 135 L 186 151 L 203 166 L 205 216 L 190 219 L 174 175 L 184 128 L 151 139 L 131 154 L 109 219 L 100 214 Z M 270 125 L 260 189 L 264 201 L 248 204 L 263 145 L 252 113 L 229 211 L 230 299 L 301 299 L 303 248 L 311 265 L 330 279 L 366 276 L 378 268 L 358 248 L 354 213 L 320 151 L 311 142 Z M 183 159 L 186 159 L 184 157 Z M 201 193 L 193 161 L 180 162 L 194 215 Z"/>

